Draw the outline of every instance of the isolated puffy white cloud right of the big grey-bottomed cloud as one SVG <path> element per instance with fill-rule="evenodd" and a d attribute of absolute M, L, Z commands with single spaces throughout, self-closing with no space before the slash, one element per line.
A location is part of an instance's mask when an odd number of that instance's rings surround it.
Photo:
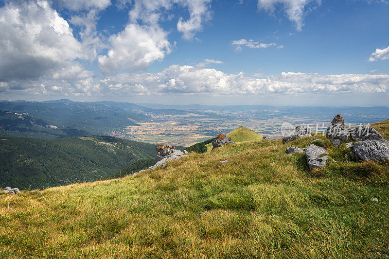
<path fill-rule="evenodd" d="M 128 24 L 124 31 L 109 38 L 111 49 L 98 57 L 99 68 L 114 70 L 146 69 L 149 64 L 170 53 L 167 33 L 158 26 Z"/>

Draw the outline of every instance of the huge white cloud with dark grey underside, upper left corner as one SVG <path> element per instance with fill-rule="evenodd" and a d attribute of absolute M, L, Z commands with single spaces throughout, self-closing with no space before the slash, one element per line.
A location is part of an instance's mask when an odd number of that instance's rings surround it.
<path fill-rule="evenodd" d="M 0 8 L 0 81 L 38 78 L 83 57 L 68 22 L 47 1 Z"/>

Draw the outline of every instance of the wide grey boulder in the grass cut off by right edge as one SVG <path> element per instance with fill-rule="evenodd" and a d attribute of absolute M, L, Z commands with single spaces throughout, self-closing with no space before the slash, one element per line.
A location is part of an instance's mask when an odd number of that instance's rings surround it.
<path fill-rule="evenodd" d="M 352 155 L 356 160 L 389 160 L 389 142 L 376 139 L 355 142 Z"/>

